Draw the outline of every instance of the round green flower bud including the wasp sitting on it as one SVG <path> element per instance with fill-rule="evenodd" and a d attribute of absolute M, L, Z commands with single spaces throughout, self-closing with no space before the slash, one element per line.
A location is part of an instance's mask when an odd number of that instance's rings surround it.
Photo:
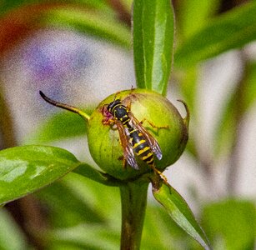
<path fill-rule="evenodd" d="M 88 122 L 94 161 L 118 179 L 138 178 L 175 163 L 188 141 L 188 117 L 160 94 L 133 89 L 101 102 Z"/>

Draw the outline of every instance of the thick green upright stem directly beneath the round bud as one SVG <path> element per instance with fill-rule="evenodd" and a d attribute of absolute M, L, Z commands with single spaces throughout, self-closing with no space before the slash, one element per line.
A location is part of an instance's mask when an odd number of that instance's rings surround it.
<path fill-rule="evenodd" d="M 120 187 L 122 202 L 121 250 L 138 250 L 147 206 L 148 183 L 126 183 Z"/>

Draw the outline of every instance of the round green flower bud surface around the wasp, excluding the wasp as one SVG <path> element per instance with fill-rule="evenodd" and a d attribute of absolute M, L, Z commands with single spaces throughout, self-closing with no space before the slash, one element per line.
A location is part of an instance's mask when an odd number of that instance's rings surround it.
<path fill-rule="evenodd" d="M 175 163 L 188 142 L 188 118 L 180 116 L 176 107 L 162 95 L 145 89 L 133 89 L 113 94 L 101 102 L 88 120 L 88 145 L 94 161 L 104 172 L 121 180 L 138 178 L 143 173 L 151 172 L 147 163 L 138 157 L 139 170 L 128 164 L 123 167 L 123 148 L 118 129 L 106 120 L 104 107 L 116 98 L 123 105 L 131 107 L 130 112 L 143 127 L 155 138 L 163 153 L 163 158 L 154 157 L 155 167 L 160 171 Z M 188 110 L 187 110 L 188 111 Z M 153 126 L 152 126 L 153 125 Z M 134 154 L 135 155 L 135 154 Z"/>

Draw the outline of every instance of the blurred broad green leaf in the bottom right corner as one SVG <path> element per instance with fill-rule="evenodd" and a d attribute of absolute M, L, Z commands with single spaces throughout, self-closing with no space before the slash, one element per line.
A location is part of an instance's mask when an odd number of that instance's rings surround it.
<path fill-rule="evenodd" d="M 213 203 L 203 209 L 203 225 L 214 249 L 253 249 L 256 208 L 248 201 Z"/>

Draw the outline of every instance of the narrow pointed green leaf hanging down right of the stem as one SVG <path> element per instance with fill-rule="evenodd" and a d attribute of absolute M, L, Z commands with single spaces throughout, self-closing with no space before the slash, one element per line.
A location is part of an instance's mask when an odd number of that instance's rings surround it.
<path fill-rule="evenodd" d="M 153 188 L 153 196 L 179 227 L 198 241 L 204 249 L 211 249 L 203 229 L 194 218 L 188 204 L 174 188 L 163 183 L 160 188 Z"/>

